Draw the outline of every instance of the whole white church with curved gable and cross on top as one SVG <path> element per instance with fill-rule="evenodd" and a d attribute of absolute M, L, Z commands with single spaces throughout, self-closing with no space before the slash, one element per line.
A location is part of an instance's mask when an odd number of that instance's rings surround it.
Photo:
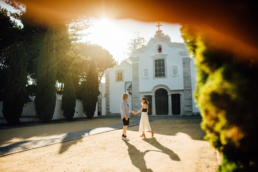
<path fill-rule="evenodd" d="M 146 46 L 133 46 L 131 64 L 124 60 L 106 69 L 106 83 L 100 84 L 98 111 L 106 116 L 120 116 L 123 93 L 133 111 L 141 109 L 141 97 L 150 102 L 148 115 L 200 115 L 193 97 L 195 66 L 183 43 L 171 42 L 160 30 Z M 104 88 L 104 87 L 105 88 Z M 103 101 L 105 100 L 105 101 Z M 104 105 L 103 105 L 104 103 Z"/>

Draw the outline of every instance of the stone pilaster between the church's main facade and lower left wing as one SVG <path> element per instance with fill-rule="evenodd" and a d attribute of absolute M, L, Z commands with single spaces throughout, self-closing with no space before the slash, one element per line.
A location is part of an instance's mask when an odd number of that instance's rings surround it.
<path fill-rule="evenodd" d="M 133 91 L 133 110 L 139 110 L 141 100 L 139 94 L 139 63 L 138 61 L 133 61 L 133 81 L 132 81 L 132 91 Z"/>

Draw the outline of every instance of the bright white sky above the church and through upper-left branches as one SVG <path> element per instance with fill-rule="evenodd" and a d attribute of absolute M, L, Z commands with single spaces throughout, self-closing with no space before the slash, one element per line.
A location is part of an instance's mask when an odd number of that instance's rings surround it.
<path fill-rule="evenodd" d="M 7 5 L 2 0 L 0 0 L 0 5 L 7 10 L 15 11 L 13 7 Z M 85 30 L 85 32 L 89 32 L 90 34 L 80 41 L 90 41 L 92 44 L 102 46 L 108 50 L 119 63 L 128 58 L 127 48 L 129 45 L 127 43 L 129 43 L 131 39 L 134 39 L 133 32 L 139 31 L 140 36 L 148 42 L 151 37 L 154 37 L 158 30 L 158 27 L 156 27 L 158 21 L 146 23 L 133 19 L 115 20 L 110 18 L 90 18 L 90 21 L 93 26 Z M 22 25 L 20 21 L 17 22 Z M 183 42 L 179 24 L 164 23 L 162 21 L 160 21 L 160 24 L 162 25 L 160 26 L 160 30 L 162 30 L 165 35 L 170 36 L 171 42 Z"/>

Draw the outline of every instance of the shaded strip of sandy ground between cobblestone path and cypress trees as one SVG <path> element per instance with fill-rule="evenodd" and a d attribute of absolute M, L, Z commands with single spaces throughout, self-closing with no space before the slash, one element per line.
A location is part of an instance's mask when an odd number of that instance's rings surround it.
<path fill-rule="evenodd" d="M 63 134 L 67 132 L 86 130 L 95 127 L 102 127 L 112 124 L 122 123 L 117 119 L 97 119 L 87 121 L 75 121 L 60 124 L 48 124 L 40 126 L 28 126 L 18 128 L 8 128 L 0 130 L 0 144 L 20 142 L 33 138 L 52 136 L 55 134 Z"/>

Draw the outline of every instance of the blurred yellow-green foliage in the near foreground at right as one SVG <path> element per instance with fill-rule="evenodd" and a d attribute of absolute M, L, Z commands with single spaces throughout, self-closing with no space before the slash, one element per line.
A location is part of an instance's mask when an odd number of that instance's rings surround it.
<path fill-rule="evenodd" d="M 217 48 L 191 26 L 181 32 L 195 55 L 195 99 L 205 139 L 223 154 L 218 171 L 258 171 L 257 58 Z"/>

